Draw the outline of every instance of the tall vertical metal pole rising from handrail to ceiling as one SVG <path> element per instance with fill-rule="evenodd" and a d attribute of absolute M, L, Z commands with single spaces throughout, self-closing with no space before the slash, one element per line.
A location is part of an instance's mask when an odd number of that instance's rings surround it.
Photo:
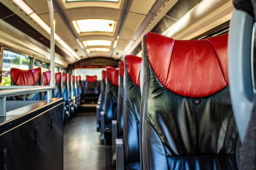
<path fill-rule="evenodd" d="M 50 86 L 55 87 L 55 42 L 54 42 L 54 32 L 55 32 L 55 20 L 54 20 L 54 11 L 53 11 L 53 0 L 47 0 L 49 15 L 50 15 L 50 27 L 51 27 L 51 37 L 50 37 L 50 46 L 51 46 L 51 81 Z M 52 100 L 52 91 L 48 95 L 48 100 Z"/>

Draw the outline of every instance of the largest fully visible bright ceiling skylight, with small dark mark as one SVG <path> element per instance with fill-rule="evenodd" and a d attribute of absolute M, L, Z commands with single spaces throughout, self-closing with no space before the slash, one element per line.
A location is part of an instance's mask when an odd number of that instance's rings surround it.
<path fill-rule="evenodd" d="M 113 32 L 115 21 L 104 19 L 85 19 L 72 21 L 77 33 L 80 32 Z M 77 27 L 77 28 L 76 28 Z"/>

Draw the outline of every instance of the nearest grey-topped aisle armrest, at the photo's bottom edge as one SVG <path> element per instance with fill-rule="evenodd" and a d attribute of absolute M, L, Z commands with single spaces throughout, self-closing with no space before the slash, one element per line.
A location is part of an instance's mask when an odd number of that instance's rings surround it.
<path fill-rule="evenodd" d="M 123 139 L 116 139 L 117 170 L 124 170 Z"/>

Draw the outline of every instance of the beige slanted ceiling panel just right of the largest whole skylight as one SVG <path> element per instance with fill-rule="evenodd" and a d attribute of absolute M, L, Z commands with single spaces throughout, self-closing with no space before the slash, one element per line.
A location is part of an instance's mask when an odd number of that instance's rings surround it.
<path fill-rule="evenodd" d="M 141 22 L 144 20 L 145 15 L 128 13 L 126 21 L 121 31 L 120 38 L 125 40 L 130 40 L 134 33 L 137 31 Z"/>

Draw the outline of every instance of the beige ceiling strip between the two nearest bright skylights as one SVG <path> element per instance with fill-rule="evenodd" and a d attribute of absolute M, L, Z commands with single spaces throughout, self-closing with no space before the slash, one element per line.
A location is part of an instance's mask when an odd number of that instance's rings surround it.
<path fill-rule="evenodd" d="M 118 21 L 120 18 L 121 10 L 107 9 L 107 8 L 80 8 L 73 10 L 65 10 L 70 21 L 81 19 L 111 19 Z"/>

